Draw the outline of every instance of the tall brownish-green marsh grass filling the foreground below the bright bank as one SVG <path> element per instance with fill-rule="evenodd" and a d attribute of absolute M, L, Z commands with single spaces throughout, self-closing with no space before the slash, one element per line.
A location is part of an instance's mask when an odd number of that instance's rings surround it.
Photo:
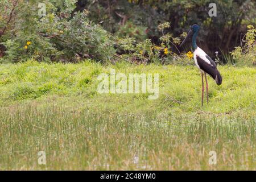
<path fill-rule="evenodd" d="M 0 169 L 256 169 L 255 119 L 117 114 L 36 105 L 0 111 Z M 46 166 L 38 152 L 46 152 Z M 209 152 L 217 164 L 210 165 Z"/>

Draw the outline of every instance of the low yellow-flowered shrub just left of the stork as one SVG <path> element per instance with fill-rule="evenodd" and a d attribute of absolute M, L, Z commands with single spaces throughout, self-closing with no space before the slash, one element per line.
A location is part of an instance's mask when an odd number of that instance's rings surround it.
<path fill-rule="evenodd" d="M 172 34 L 164 34 L 164 30 L 170 28 L 170 23 L 161 23 L 158 30 L 161 32 L 160 45 L 155 45 L 150 39 L 138 42 L 135 38 L 126 37 L 118 38 L 117 47 L 119 53 L 122 54 L 122 59 L 127 59 L 130 62 L 136 63 L 162 63 L 162 64 L 190 64 L 189 60 L 179 52 L 177 44 L 180 43 L 180 38 L 175 38 Z M 183 33 L 181 36 L 186 36 Z M 172 50 L 175 48 L 176 52 Z M 187 54 L 188 58 L 193 57 L 193 53 Z"/>

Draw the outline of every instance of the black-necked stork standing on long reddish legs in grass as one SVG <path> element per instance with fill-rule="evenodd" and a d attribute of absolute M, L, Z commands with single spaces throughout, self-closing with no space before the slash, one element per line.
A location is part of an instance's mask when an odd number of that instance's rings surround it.
<path fill-rule="evenodd" d="M 206 82 L 206 88 L 207 88 L 207 104 L 208 104 L 208 82 L 207 82 L 207 75 L 210 75 L 217 83 L 217 85 L 220 85 L 222 82 L 222 77 L 220 75 L 220 72 L 217 69 L 216 64 L 214 61 L 205 53 L 201 48 L 199 48 L 196 45 L 196 37 L 199 32 L 199 25 L 193 24 L 191 28 L 188 31 L 188 35 L 183 40 L 183 42 L 180 44 L 182 46 L 184 42 L 187 40 L 188 36 L 190 34 L 193 34 L 192 36 L 192 50 L 193 50 L 193 57 L 196 63 L 196 66 L 201 71 L 202 76 L 202 106 L 204 101 L 204 76 L 205 76 L 205 82 Z"/>

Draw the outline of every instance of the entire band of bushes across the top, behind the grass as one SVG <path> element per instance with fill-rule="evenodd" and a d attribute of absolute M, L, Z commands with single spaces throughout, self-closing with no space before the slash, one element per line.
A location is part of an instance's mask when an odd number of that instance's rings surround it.
<path fill-rule="evenodd" d="M 184 38 L 192 20 L 203 21 L 200 34 L 206 39 L 214 32 L 222 32 L 214 27 L 221 24 L 225 31 L 230 28 L 238 33 L 241 24 L 248 22 L 253 13 L 248 9 L 253 2 L 236 2 L 233 9 L 249 12 L 241 17 L 235 26 L 233 19 L 236 14 L 214 22 L 207 16 L 201 16 L 206 9 L 195 11 L 197 7 L 204 7 L 207 2 L 192 3 L 188 1 L 76 1 L 58 0 L 44 1 L 46 14 L 42 14 L 42 7 L 36 0 L 12 0 L 0 2 L 0 57 L 1 62 L 17 62 L 33 57 L 38 61 L 79 62 L 82 59 L 96 61 L 126 60 L 132 63 L 179 63 L 191 64 L 193 55 L 180 52 L 179 43 Z M 230 6 L 221 3 L 222 7 Z M 169 9 L 179 11 L 176 19 Z M 22 10 L 22 11 L 20 11 Z M 89 11 L 90 12 L 89 12 Z M 185 11 L 186 10 L 186 11 Z M 219 10 L 220 16 L 226 11 Z M 187 12 L 187 13 L 186 13 Z M 197 13 L 195 15 L 195 13 Z M 195 16 L 194 16 L 195 15 Z M 179 20 L 178 22 L 176 20 Z M 229 25 L 229 23 L 232 23 Z M 195 23 L 195 22 L 194 22 Z M 232 52 L 229 63 L 242 65 L 255 64 L 255 28 L 248 27 L 248 32 L 241 40 L 241 45 Z M 241 30 L 240 30 L 241 31 Z M 222 42 L 230 40 L 224 40 Z M 236 36 L 237 37 L 237 36 Z M 233 37 L 230 37 L 233 39 Z M 208 42 L 214 42 L 211 39 Z M 204 42 L 204 41 L 203 41 Z M 202 48 L 213 57 L 215 51 L 221 48 L 208 47 L 199 39 Z M 227 43 L 228 43 L 227 42 Z M 236 46 L 235 40 L 234 46 Z M 223 47 L 222 47 L 223 48 Z M 209 50 L 214 49 L 214 51 Z M 230 48 L 232 49 L 232 47 Z M 224 49 L 225 52 L 225 49 Z M 223 55 L 224 55 L 223 52 Z M 226 53 L 226 52 L 225 52 Z M 220 63 L 225 62 L 217 58 Z"/>

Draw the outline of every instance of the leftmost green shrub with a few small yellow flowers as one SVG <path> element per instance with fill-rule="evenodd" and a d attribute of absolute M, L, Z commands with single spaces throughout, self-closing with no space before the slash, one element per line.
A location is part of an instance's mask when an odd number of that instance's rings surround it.
<path fill-rule="evenodd" d="M 3 60 L 19 61 L 26 60 L 28 57 L 34 56 L 36 52 L 40 55 L 40 60 L 44 57 L 50 60 L 52 56 L 56 56 L 60 51 L 57 50 L 51 39 L 40 35 L 45 29 L 54 26 L 52 22 L 52 12 L 55 10 L 51 3 L 46 2 L 46 17 L 38 15 L 38 2 L 31 1 L 3 1 L 3 6 L 10 6 L 13 10 L 6 16 L 10 19 L 6 24 L 6 31 L 0 37 L 1 44 L 5 46 L 5 57 Z M 22 11 L 19 11 L 22 9 Z M 54 18 L 54 16 L 53 16 Z"/>

